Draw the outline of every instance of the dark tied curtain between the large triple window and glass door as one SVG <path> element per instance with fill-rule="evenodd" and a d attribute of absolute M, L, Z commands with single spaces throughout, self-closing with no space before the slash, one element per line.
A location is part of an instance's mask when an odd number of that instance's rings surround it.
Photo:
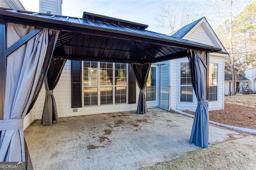
<path fill-rule="evenodd" d="M 151 63 L 131 63 L 131 66 L 134 71 L 137 84 L 140 88 L 136 113 L 145 114 L 147 113 L 145 88 L 148 80 L 148 73 L 150 70 Z"/>

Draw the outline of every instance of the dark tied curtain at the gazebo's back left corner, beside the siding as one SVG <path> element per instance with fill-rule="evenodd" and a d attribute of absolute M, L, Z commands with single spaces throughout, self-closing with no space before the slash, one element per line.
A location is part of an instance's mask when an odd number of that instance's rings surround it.
<path fill-rule="evenodd" d="M 50 67 L 48 69 L 47 76 L 44 81 L 46 94 L 41 119 L 41 123 L 43 125 L 52 125 L 52 123 L 58 122 L 57 106 L 53 96 L 53 90 L 58 84 L 61 72 L 66 61 L 67 60 L 64 58 L 52 58 L 52 61 L 50 63 Z"/>

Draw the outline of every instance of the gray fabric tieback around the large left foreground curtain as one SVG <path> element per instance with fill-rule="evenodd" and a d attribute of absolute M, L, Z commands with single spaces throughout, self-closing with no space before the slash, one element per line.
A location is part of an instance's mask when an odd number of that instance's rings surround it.
<path fill-rule="evenodd" d="M 23 119 L 2 119 L 0 120 L 0 131 L 2 130 L 23 130 Z"/>

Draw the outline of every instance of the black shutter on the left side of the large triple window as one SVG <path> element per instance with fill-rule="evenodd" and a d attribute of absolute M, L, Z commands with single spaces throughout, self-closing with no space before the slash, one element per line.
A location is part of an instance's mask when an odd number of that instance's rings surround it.
<path fill-rule="evenodd" d="M 82 61 L 71 60 L 71 108 L 82 107 Z"/>

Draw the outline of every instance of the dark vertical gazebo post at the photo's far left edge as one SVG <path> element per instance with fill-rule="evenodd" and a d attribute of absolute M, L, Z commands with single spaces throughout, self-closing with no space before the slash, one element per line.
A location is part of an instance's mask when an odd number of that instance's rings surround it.
<path fill-rule="evenodd" d="M 7 69 L 5 23 L 0 23 L 0 40 L 0 119 L 4 119 L 4 99 Z"/>

